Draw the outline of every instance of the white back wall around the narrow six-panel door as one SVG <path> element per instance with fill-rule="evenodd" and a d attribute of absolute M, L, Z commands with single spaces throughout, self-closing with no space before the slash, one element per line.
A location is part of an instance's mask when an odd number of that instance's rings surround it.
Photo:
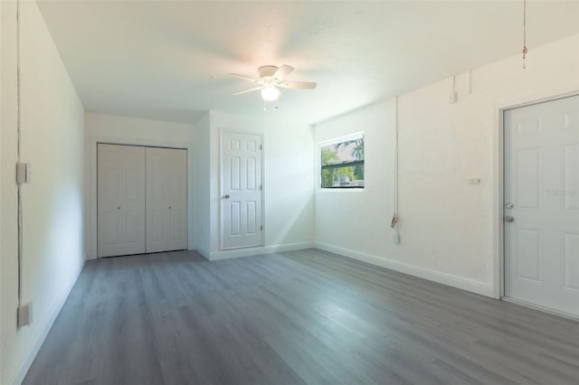
<path fill-rule="evenodd" d="M 313 134 L 311 127 L 274 117 L 211 112 L 211 259 L 313 246 Z M 265 240 L 263 248 L 219 251 L 220 135 L 222 130 L 263 135 Z"/>

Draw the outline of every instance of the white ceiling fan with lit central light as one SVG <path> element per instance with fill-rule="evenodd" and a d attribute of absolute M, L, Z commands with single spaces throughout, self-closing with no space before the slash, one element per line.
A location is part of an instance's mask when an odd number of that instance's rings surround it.
<path fill-rule="evenodd" d="M 294 70 L 288 64 L 282 64 L 281 67 L 273 65 L 265 65 L 260 67 L 260 78 L 253 79 L 249 76 L 243 76 L 238 73 L 230 73 L 231 76 L 242 80 L 248 80 L 252 83 L 259 84 L 258 87 L 252 89 L 245 89 L 241 92 L 235 92 L 233 95 L 241 95 L 246 92 L 261 90 L 261 98 L 264 100 L 277 100 L 280 98 L 281 92 L 278 87 L 282 89 L 315 89 L 316 83 L 311 81 L 286 81 L 285 79 Z"/>

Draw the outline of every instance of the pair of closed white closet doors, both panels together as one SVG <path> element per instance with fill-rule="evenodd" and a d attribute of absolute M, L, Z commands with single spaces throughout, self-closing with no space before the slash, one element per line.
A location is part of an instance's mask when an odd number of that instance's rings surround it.
<path fill-rule="evenodd" d="M 186 150 L 98 145 L 98 257 L 187 248 Z"/>

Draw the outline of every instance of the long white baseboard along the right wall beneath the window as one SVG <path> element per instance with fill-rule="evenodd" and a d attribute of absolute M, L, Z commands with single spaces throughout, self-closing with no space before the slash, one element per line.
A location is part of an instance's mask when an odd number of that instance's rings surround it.
<path fill-rule="evenodd" d="M 375 255 L 365 254 L 359 251 L 338 248 L 337 246 L 328 245 L 327 243 L 323 242 L 316 242 L 316 248 L 329 251 L 346 258 L 360 260 L 371 265 L 380 266 L 382 268 L 390 268 L 391 270 L 399 271 L 404 274 L 428 279 L 429 281 L 437 282 L 442 285 L 457 287 L 462 290 L 479 294 L 481 296 L 489 296 L 494 298 L 492 286 L 485 285 L 467 278 L 452 276 L 450 274 L 441 273 L 440 271 L 434 271 L 428 268 L 419 268 L 417 266 L 409 265 L 403 262 L 377 257 Z"/>

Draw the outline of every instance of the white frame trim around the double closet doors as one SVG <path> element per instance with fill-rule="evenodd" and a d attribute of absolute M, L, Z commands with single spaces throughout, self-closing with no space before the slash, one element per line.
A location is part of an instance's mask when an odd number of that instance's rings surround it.
<path fill-rule="evenodd" d="M 191 177 L 193 144 L 181 141 L 170 141 L 161 139 L 138 139 L 116 136 L 87 135 L 85 138 L 85 237 L 86 237 L 86 259 L 97 258 L 97 145 L 122 145 L 122 146 L 144 146 L 163 147 L 187 150 L 187 248 L 193 245 L 193 178 Z"/>

